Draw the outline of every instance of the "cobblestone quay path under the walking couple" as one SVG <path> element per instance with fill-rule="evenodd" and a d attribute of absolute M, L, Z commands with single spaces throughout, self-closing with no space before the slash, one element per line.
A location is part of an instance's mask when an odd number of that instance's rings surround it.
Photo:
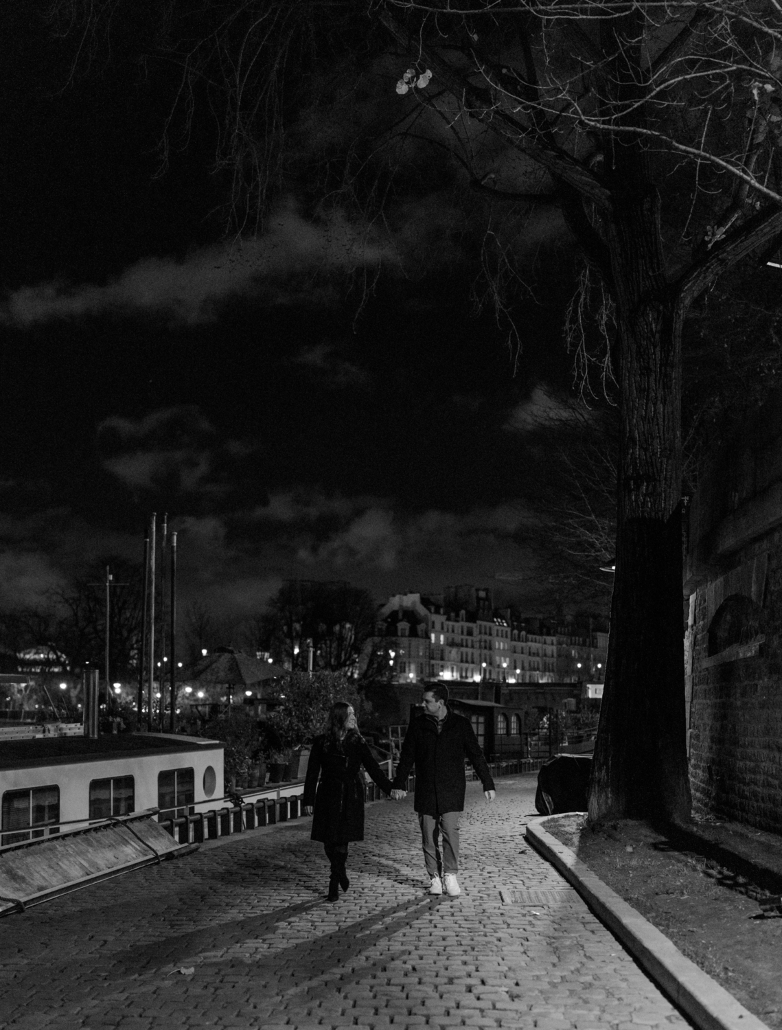
<path fill-rule="evenodd" d="M 688 1026 L 525 844 L 535 786 L 468 785 L 458 898 L 424 893 L 408 796 L 368 805 L 336 904 L 300 819 L 8 916 L 0 1026 Z"/>

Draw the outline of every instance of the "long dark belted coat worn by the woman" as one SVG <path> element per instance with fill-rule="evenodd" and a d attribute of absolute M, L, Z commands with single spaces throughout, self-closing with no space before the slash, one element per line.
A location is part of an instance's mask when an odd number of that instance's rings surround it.
<path fill-rule="evenodd" d="M 322 844 L 363 840 L 362 766 L 386 794 L 390 794 L 390 780 L 358 733 L 348 733 L 340 751 L 325 745 L 326 736 L 315 737 L 304 781 L 303 803 L 314 804 L 311 837 Z"/>

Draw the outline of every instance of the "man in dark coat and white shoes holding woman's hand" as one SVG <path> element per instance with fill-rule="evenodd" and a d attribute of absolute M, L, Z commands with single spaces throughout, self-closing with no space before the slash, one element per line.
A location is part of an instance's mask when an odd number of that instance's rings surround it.
<path fill-rule="evenodd" d="M 458 819 L 465 808 L 465 758 L 478 774 L 487 801 L 495 799 L 495 782 L 469 720 L 447 706 L 448 688 L 435 684 L 423 691 L 423 713 L 407 727 L 397 775 L 395 799 L 405 796 L 405 784 L 415 766 L 415 811 L 418 814 L 423 860 L 431 878 L 430 894 L 461 894 Z M 442 834 L 442 854 L 440 836 Z"/>

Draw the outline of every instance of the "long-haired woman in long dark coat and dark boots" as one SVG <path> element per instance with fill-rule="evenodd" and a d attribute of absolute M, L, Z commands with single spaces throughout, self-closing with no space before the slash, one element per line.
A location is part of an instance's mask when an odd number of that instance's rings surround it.
<path fill-rule="evenodd" d="M 331 862 L 330 901 L 339 898 L 340 887 L 346 891 L 350 886 L 345 872 L 348 843 L 364 839 L 362 765 L 378 787 L 390 794 L 390 780 L 356 729 L 352 707 L 346 701 L 335 701 L 326 732 L 312 744 L 304 782 L 304 812 L 311 816 L 314 811 L 310 836 L 322 843 Z"/>

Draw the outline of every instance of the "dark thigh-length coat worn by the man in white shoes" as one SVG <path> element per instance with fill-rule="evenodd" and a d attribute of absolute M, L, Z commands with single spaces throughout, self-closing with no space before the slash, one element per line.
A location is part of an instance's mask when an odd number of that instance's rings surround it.
<path fill-rule="evenodd" d="M 448 709 L 438 732 L 435 719 L 426 714 L 414 716 L 402 743 L 394 787 L 404 790 L 414 765 L 416 812 L 426 816 L 463 812 L 466 758 L 478 774 L 483 789 L 494 790 L 495 781 L 468 719 Z"/>

